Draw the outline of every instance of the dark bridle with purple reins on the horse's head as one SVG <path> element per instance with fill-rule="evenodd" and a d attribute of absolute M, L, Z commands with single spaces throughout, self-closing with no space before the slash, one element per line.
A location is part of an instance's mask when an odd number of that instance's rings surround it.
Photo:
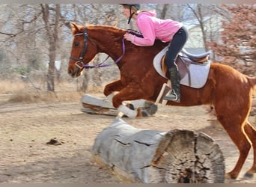
<path fill-rule="evenodd" d="M 87 28 L 86 27 L 84 28 L 83 33 L 74 34 L 74 37 L 81 36 L 81 35 L 84 35 L 84 45 L 82 47 L 82 52 L 80 53 L 80 57 L 79 58 L 75 58 L 73 56 L 70 56 L 70 60 L 76 61 L 76 67 L 79 68 L 80 70 L 82 70 L 83 68 L 88 69 L 88 68 L 94 68 L 94 67 L 109 67 L 109 66 L 111 66 L 112 64 L 104 64 L 107 61 L 107 59 L 109 58 L 109 56 L 103 62 L 101 62 L 101 63 L 99 63 L 97 65 L 89 65 L 88 62 L 84 61 L 85 52 L 88 49 L 88 40 L 90 40 L 91 43 L 94 44 L 94 46 L 97 47 L 97 45 L 88 36 L 88 32 L 87 32 Z M 123 56 L 124 56 L 124 53 L 125 53 L 124 37 L 122 39 L 122 50 L 123 50 L 123 53 L 115 61 L 115 64 L 117 64 L 119 61 L 121 61 L 121 58 L 123 58 Z M 81 63 L 82 66 L 80 66 L 79 63 Z"/>

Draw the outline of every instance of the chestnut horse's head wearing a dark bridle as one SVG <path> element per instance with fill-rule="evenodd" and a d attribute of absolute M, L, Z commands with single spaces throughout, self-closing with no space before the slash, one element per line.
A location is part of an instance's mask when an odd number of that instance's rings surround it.
<path fill-rule="evenodd" d="M 71 24 L 73 44 L 67 72 L 72 77 L 81 76 L 84 64 L 88 64 L 97 55 L 97 46 L 88 37 L 87 29 L 84 26 Z"/>

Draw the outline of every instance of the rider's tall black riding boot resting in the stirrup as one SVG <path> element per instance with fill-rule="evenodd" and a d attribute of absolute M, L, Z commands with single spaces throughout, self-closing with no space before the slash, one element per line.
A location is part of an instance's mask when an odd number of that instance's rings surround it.
<path fill-rule="evenodd" d="M 163 99 L 171 100 L 174 102 L 180 102 L 180 74 L 178 72 L 177 66 L 168 69 L 171 78 L 171 93 L 164 96 Z"/>

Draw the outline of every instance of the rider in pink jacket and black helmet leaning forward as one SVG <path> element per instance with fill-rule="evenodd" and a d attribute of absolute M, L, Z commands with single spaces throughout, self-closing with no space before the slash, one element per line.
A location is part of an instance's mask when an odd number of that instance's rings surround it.
<path fill-rule="evenodd" d="M 188 31 L 181 22 L 171 19 L 156 18 L 153 10 L 141 10 L 140 4 L 122 4 L 124 16 L 135 19 L 138 30 L 143 37 L 136 37 L 133 34 L 126 33 L 124 38 L 136 46 L 153 46 L 156 39 L 162 42 L 168 42 L 168 51 L 165 56 L 165 64 L 171 79 L 171 93 L 164 96 L 163 99 L 180 102 L 180 74 L 177 64 L 175 64 L 177 55 L 183 49 L 188 38 Z"/>

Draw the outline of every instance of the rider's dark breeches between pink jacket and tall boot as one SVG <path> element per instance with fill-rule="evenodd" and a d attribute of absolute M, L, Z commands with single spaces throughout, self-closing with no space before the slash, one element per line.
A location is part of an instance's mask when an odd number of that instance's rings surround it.
<path fill-rule="evenodd" d="M 174 34 L 165 56 L 165 64 L 167 65 L 168 69 L 174 66 L 177 55 L 181 49 L 183 49 L 188 37 L 188 31 L 184 27 L 181 27 L 177 33 Z"/>

